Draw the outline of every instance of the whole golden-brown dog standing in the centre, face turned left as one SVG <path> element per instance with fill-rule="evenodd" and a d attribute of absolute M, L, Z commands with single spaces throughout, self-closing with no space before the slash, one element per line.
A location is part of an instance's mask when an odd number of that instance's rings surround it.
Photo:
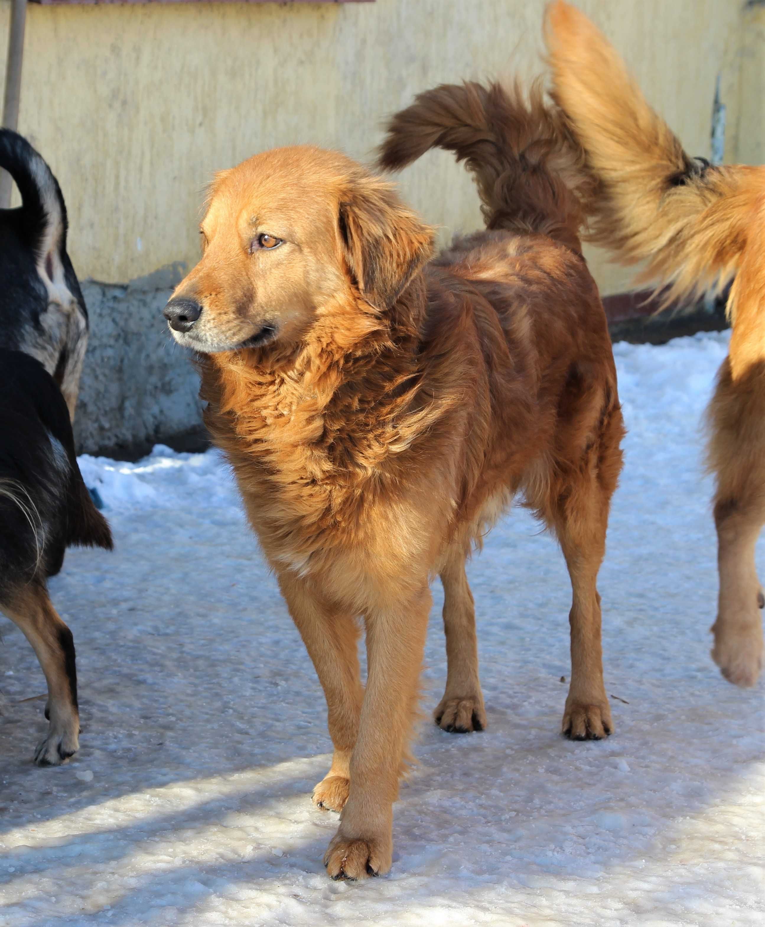
<path fill-rule="evenodd" d="M 581 154 L 538 94 L 527 108 L 476 84 L 420 96 L 382 162 L 433 145 L 469 160 L 492 231 L 429 262 L 432 231 L 391 184 L 341 154 L 268 151 L 216 178 L 204 256 L 166 309 L 203 355 L 207 425 L 326 694 L 334 756 L 313 800 L 342 811 L 333 878 L 390 868 L 436 573 L 448 676 L 435 717 L 485 726 L 464 562 L 516 492 L 571 573 L 563 729 L 612 730 L 596 576 L 622 424 L 577 237 Z"/>

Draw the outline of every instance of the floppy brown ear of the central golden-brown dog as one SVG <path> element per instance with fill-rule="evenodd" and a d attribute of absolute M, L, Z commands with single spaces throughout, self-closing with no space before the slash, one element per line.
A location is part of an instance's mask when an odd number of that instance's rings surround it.
<path fill-rule="evenodd" d="M 377 177 L 348 185 L 338 224 L 354 283 L 379 310 L 394 304 L 433 254 L 433 230 L 399 201 L 392 184 Z"/>

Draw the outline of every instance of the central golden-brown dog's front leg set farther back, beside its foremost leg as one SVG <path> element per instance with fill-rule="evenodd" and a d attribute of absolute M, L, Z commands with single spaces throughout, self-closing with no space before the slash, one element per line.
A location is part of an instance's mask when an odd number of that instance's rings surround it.
<path fill-rule="evenodd" d="M 332 767 L 314 788 L 312 801 L 323 810 L 342 811 L 364 697 L 358 668 L 360 629 L 353 616 L 322 603 L 303 580 L 285 575 L 279 582 L 327 700 Z"/>

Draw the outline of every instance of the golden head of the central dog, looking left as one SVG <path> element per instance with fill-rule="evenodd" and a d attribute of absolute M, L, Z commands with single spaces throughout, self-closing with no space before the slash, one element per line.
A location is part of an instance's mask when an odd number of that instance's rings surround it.
<path fill-rule="evenodd" d="M 205 354 L 298 342 L 349 299 L 382 313 L 433 248 L 390 184 L 309 146 L 219 173 L 200 232 L 202 260 L 164 314 L 176 341 Z"/>

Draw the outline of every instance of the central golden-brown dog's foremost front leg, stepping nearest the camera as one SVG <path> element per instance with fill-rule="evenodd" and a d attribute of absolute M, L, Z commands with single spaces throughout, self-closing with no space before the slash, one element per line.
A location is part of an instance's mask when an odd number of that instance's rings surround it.
<path fill-rule="evenodd" d="M 367 616 L 369 674 L 351 788 L 340 827 L 324 856 L 332 879 L 366 879 L 391 868 L 393 803 L 415 716 L 431 594 Z"/>

